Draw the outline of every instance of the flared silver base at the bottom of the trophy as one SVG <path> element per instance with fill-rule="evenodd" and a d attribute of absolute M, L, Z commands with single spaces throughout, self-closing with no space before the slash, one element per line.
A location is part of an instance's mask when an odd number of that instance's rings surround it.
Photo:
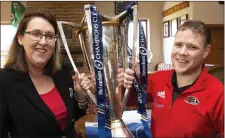
<path fill-rule="evenodd" d="M 111 134 L 113 138 L 134 138 L 121 119 L 111 120 Z"/>

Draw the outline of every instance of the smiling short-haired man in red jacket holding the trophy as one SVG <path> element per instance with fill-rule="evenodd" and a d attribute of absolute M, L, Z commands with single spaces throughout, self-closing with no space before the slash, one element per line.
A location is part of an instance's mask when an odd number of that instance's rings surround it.
<path fill-rule="evenodd" d="M 224 86 L 208 74 L 211 33 L 201 21 L 183 23 L 172 48 L 174 70 L 148 76 L 148 98 L 152 103 L 151 133 L 156 138 L 224 136 Z M 222 57 L 221 57 L 222 58 Z M 126 69 L 119 82 L 130 89 L 134 72 Z M 136 96 L 130 97 L 131 103 Z"/>

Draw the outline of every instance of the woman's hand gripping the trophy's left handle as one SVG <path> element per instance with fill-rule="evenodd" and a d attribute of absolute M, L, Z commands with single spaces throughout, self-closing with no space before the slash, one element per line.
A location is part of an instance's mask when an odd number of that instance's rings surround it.
<path fill-rule="evenodd" d="M 80 74 L 78 78 L 78 73 L 72 76 L 74 82 L 74 90 L 76 91 L 76 98 L 79 102 L 87 101 L 87 90 L 93 87 L 91 80 L 85 75 L 85 73 Z"/>

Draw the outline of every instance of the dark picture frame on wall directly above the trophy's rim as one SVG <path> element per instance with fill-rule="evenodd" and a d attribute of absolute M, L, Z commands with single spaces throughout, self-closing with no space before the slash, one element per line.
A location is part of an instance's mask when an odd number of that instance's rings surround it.
<path fill-rule="evenodd" d="M 125 11 L 127 7 L 137 5 L 137 1 L 115 1 L 115 14 L 118 15 Z"/>

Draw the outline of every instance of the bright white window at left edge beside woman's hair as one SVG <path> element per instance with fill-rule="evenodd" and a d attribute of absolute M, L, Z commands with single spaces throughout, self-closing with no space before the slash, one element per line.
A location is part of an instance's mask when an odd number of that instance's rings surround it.
<path fill-rule="evenodd" d="M 1 24 L 1 52 L 0 52 L 0 65 L 1 68 L 4 66 L 6 62 L 6 58 L 8 55 L 9 47 L 12 43 L 12 40 L 16 34 L 17 28 L 9 24 Z"/>

